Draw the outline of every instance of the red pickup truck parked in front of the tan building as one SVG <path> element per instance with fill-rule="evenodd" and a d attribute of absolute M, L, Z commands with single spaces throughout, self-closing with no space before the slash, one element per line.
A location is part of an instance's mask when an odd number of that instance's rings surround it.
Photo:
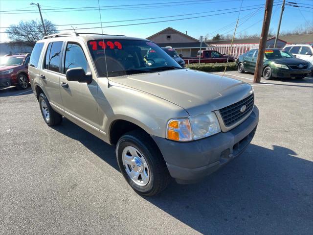
<path fill-rule="evenodd" d="M 201 53 L 200 53 L 201 52 Z M 195 64 L 199 63 L 225 63 L 227 62 L 235 62 L 235 58 L 230 55 L 222 55 L 220 52 L 216 50 L 199 50 L 197 57 L 183 57 L 182 59 L 186 64 Z"/>

